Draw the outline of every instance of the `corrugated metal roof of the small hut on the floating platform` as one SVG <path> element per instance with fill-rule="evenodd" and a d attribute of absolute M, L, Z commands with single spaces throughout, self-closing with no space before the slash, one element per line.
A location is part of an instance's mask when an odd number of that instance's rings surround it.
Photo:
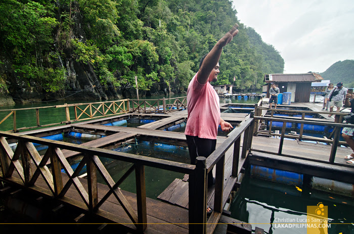
<path fill-rule="evenodd" d="M 267 74 L 264 76 L 264 82 L 320 82 L 323 78 L 318 73 L 302 74 Z"/>

